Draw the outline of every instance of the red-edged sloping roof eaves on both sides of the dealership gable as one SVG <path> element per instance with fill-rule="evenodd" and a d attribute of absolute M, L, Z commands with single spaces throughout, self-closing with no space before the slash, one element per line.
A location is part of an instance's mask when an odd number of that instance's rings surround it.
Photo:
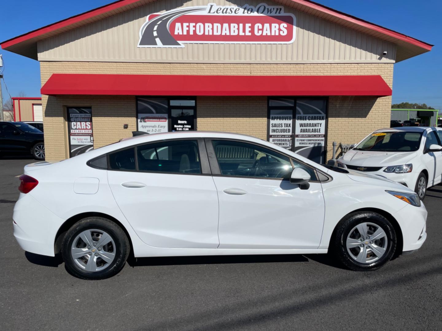
<path fill-rule="evenodd" d="M 63 33 L 67 30 L 78 28 L 97 20 L 117 15 L 123 11 L 130 10 L 144 4 L 154 2 L 154 0 L 119 0 L 111 4 L 86 11 L 83 14 L 72 16 L 68 19 L 43 26 L 37 30 L 30 31 L 18 37 L 8 39 L 0 43 L 2 49 L 37 59 L 37 41 L 50 38 L 53 35 Z M 274 0 L 275 3 L 282 4 L 300 11 L 316 15 L 323 19 L 328 19 L 335 23 L 347 26 L 362 33 L 370 34 L 376 38 L 395 43 L 398 45 L 396 61 L 405 60 L 411 56 L 430 51 L 432 46 L 424 41 L 417 40 L 399 32 L 387 29 L 358 19 L 354 16 L 328 8 L 321 4 L 309 0 Z M 402 50 L 404 48 L 404 50 Z M 409 48 L 409 49 L 408 49 Z"/>

